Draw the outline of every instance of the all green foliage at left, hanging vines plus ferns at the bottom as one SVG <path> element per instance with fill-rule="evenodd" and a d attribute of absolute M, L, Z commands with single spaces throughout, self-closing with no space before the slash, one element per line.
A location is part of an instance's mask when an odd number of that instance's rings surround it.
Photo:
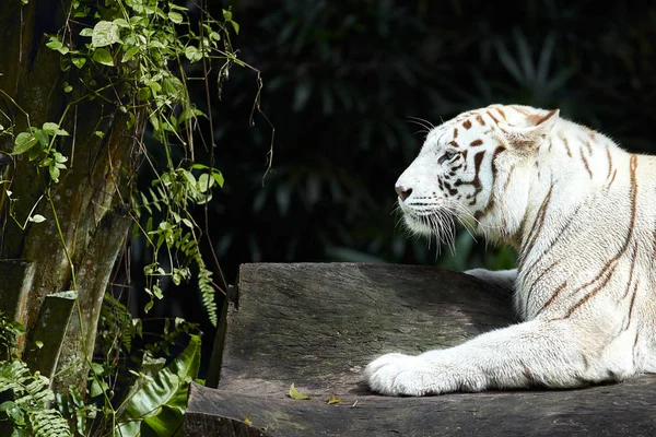
<path fill-rule="evenodd" d="M 21 2 L 28 4 L 26 0 Z M 214 141 L 200 131 L 202 125 L 212 125 L 206 115 L 211 114 L 209 96 L 207 110 L 198 109 L 188 93 L 188 81 L 201 79 L 207 83 L 209 70 L 218 63 L 220 86 L 233 66 L 250 67 L 237 59 L 232 49 L 231 33 L 239 32 L 232 11 L 222 10 L 223 20 L 216 21 L 204 9 L 196 9 L 201 11 L 199 20 L 194 20 L 198 12 L 190 12 L 180 2 L 70 1 L 65 25 L 48 34 L 46 43 L 47 48 L 59 54 L 66 79 L 57 83 L 60 88 L 54 90 L 68 96 L 61 117 L 40 127 L 32 126 L 30 114 L 0 90 L 27 121 L 24 130 L 13 123 L 7 129 L 0 127 L 0 134 L 13 139 L 13 149 L 8 153 L 16 161 L 33 164 L 39 176 L 37 182 L 45 187 L 36 204 L 27 206 L 32 210 L 24 220 L 13 209 L 21 199 L 12 198 L 7 189 L 8 215 L 25 231 L 30 223 L 46 220 L 34 214 L 40 200 L 51 205 L 72 272 L 71 286 L 77 290 L 77 260 L 69 256 L 55 208 L 59 198 L 52 194 L 52 188 L 72 168 L 74 154 L 80 153 L 75 150 L 89 145 L 87 139 L 75 134 L 80 105 L 95 101 L 99 107 L 118 108 L 128 120 L 127 134 L 133 138 L 134 156 L 140 156 L 148 167 L 140 176 L 150 179 L 148 188 L 140 191 L 136 184 L 139 165 L 124 164 L 121 172 L 132 180 L 129 198 L 121 197 L 125 187 L 116 187 L 121 202 L 128 204 L 121 211 L 133 218 L 136 237 L 151 250 L 151 260 L 144 268 L 143 290 L 150 297 L 144 310 L 148 312 L 154 300 L 164 296 L 164 281 L 178 285 L 195 279 L 204 309 L 215 326 L 215 295 L 224 293 L 225 283 L 219 285 L 212 277 L 213 270 L 220 271 L 216 258 L 213 257 L 213 265 L 208 265 L 200 249 L 201 240 L 208 237 L 208 225 L 201 227 L 192 213 L 197 208 L 207 208 L 224 179 L 214 167 Z M 189 75 L 194 64 L 202 66 L 200 78 Z M 257 80 L 261 87 L 259 75 Z M 258 98 L 259 91 L 253 111 L 259 110 Z M 103 116 L 96 121 L 98 128 L 93 137 L 101 144 L 107 132 L 103 126 L 112 117 Z M 78 149 L 77 142 L 81 144 Z M 198 161 L 199 150 L 203 149 L 201 156 L 206 161 Z M 156 154 L 164 156 L 163 163 Z M 168 432 L 174 429 L 181 435 L 189 382 L 197 378 L 200 366 L 198 329 L 183 319 L 165 319 L 163 333 L 148 338 L 153 333 L 144 332 L 143 324 L 118 299 L 107 295 L 96 338 L 96 359 L 87 363 L 87 393 L 70 387 L 68 393 L 55 394 L 48 388 L 50 381 L 31 374 L 14 354 L 15 336 L 24 330 L 0 317 L 0 341 L 7 355 L 0 361 L 0 392 L 11 398 L 0 405 L 0 415 L 11 421 L 14 435 L 171 435 Z M 180 339 L 188 340 L 181 351 Z"/>

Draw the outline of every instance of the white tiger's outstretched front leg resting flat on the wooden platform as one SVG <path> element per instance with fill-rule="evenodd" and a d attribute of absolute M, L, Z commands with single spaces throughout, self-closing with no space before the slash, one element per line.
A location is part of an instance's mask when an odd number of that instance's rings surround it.
<path fill-rule="evenodd" d="M 575 388 L 633 374 L 630 354 L 599 361 L 577 340 L 585 336 L 576 329 L 569 320 L 531 320 L 456 347 L 418 356 L 383 355 L 366 366 L 364 378 L 383 394 L 426 395 L 534 386 Z M 625 359 L 617 359 L 622 355 Z"/>

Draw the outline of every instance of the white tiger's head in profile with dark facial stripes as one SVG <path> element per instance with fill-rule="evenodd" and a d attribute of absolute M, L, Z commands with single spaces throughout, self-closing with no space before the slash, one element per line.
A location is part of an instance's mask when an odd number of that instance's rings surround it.
<path fill-rule="evenodd" d="M 493 238 L 511 235 L 523 216 L 517 211 L 525 211 L 528 203 L 529 174 L 524 169 L 532 167 L 558 114 L 492 105 L 431 129 L 396 182 L 409 229 L 448 241 L 456 217 Z M 497 216 L 502 203 L 514 213 Z"/>

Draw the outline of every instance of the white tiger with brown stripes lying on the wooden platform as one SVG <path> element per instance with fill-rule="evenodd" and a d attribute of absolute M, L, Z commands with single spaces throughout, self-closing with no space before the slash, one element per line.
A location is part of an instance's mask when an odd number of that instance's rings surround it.
<path fill-rule="evenodd" d="M 364 378 L 384 394 L 573 388 L 656 370 L 656 157 L 630 154 L 558 110 L 492 105 L 432 129 L 397 181 L 407 226 L 476 218 L 512 245 L 523 322 L 418 356 L 386 354 Z"/>

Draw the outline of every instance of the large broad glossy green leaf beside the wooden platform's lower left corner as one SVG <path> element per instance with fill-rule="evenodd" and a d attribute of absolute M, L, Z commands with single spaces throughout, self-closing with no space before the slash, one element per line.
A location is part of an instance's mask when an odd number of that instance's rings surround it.
<path fill-rule="evenodd" d="M 200 367 L 200 336 L 190 335 L 189 344 L 183 353 L 159 371 L 152 381 L 136 382 L 137 385 L 142 383 L 142 386 L 125 403 L 122 414 L 118 417 L 117 435 L 138 436 L 141 421 L 160 414 L 164 414 L 160 420 L 166 422 L 171 429 L 176 428 L 171 423 L 173 416 L 179 417 L 179 424 L 181 424 L 181 415 L 187 405 L 189 381 L 198 376 Z M 177 413 L 173 410 L 176 410 Z M 148 426 L 156 426 L 157 422 L 150 421 Z"/>

